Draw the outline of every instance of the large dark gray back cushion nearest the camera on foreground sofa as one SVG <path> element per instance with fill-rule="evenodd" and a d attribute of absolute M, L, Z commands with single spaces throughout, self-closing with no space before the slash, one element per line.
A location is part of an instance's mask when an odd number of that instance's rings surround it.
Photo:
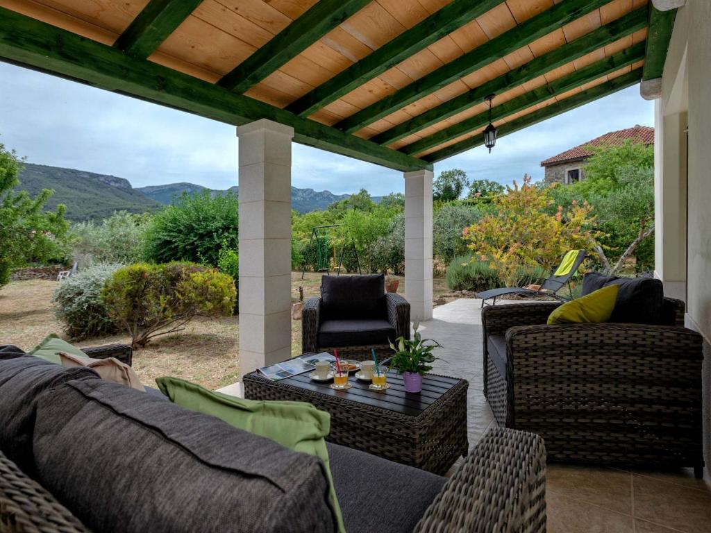
<path fill-rule="evenodd" d="M 44 394 L 33 448 L 42 485 L 97 532 L 336 529 L 318 458 L 103 380 Z"/>

